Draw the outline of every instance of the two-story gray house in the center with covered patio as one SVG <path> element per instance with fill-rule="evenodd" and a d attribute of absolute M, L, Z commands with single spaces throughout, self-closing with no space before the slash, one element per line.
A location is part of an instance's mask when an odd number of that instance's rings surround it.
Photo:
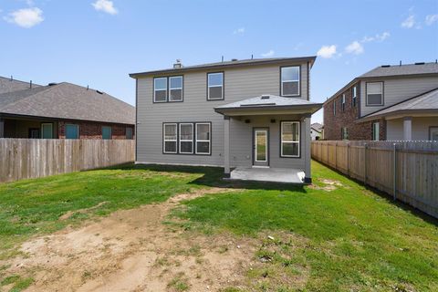
<path fill-rule="evenodd" d="M 255 179 L 253 167 L 282 169 L 305 172 L 310 182 L 310 116 L 321 108 L 309 101 L 315 58 L 177 63 L 130 74 L 137 85 L 136 161 L 221 166 L 232 179 L 241 177 L 237 171 Z"/>

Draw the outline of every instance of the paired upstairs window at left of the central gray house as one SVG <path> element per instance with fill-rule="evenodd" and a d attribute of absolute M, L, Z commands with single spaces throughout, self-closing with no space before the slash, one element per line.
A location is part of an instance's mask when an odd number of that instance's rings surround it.
<path fill-rule="evenodd" d="M 153 102 L 183 101 L 183 76 L 153 78 Z"/>

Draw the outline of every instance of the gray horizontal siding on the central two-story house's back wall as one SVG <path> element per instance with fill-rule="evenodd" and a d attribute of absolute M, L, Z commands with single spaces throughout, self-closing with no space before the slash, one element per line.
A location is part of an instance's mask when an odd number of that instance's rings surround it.
<path fill-rule="evenodd" d="M 301 99 L 308 99 L 307 64 L 301 66 Z M 137 125 L 137 161 L 153 163 L 224 165 L 224 117 L 214 112 L 214 107 L 248 99 L 262 94 L 279 95 L 280 67 L 257 66 L 246 68 L 228 68 L 224 70 L 224 100 L 206 100 L 206 71 L 183 74 L 183 102 L 153 103 L 153 78 L 138 79 L 138 125 Z M 173 74 L 174 75 L 174 74 Z M 296 117 L 294 117 L 295 119 Z M 256 125 L 272 128 L 271 138 L 278 137 L 279 120 L 270 124 L 271 117 L 252 119 L 254 124 L 231 122 L 231 164 L 251 165 L 252 127 Z M 285 117 L 285 120 L 290 120 Z M 183 121 L 212 122 L 212 155 L 183 155 L 162 153 L 162 123 Z M 249 129 L 249 130 L 248 130 Z M 304 139 L 304 136 L 302 136 Z M 249 147 L 246 148 L 249 142 Z M 277 141 L 278 143 L 279 141 Z M 304 144 L 303 144 L 304 145 Z M 304 147 L 304 146 L 303 146 Z M 279 145 L 271 147 L 273 166 L 297 167 L 304 165 L 299 159 L 279 159 Z M 251 157 L 251 156 L 250 156 Z M 276 158 L 275 158 L 276 157 Z M 242 163 L 242 164 L 239 164 Z M 304 166 L 303 166 L 304 167 Z"/>

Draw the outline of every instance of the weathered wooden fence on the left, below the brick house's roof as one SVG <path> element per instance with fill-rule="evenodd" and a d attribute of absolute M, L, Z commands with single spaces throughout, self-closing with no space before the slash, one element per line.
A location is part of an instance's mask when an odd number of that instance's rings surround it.
<path fill-rule="evenodd" d="M 133 140 L 0 139 L 0 183 L 133 162 Z"/>

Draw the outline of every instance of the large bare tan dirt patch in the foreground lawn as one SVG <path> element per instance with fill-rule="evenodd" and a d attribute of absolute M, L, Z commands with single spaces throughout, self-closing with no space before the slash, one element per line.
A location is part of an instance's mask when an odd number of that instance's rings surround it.
<path fill-rule="evenodd" d="M 257 264 L 255 238 L 199 235 L 162 224 L 182 200 L 223 192 L 230 190 L 183 193 L 165 203 L 118 211 L 80 228 L 68 227 L 25 243 L 21 251 L 26 256 L 0 265 L 10 265 L 8 274 L 32 274 L 35 282 L 26 291 L 239 287 L 245 282 L 245 271 Z"/>

